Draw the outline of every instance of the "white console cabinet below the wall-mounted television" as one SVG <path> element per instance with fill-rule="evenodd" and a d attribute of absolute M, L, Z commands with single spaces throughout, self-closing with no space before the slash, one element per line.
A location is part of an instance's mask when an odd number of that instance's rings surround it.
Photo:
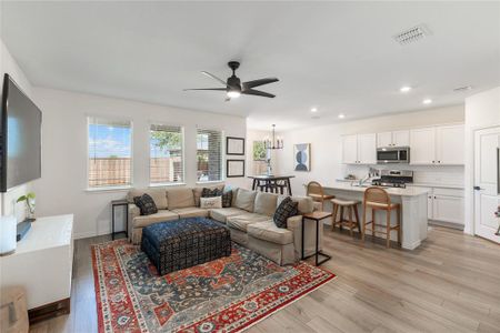
<path fill-rule="evenodd" d="M 18 242 L 13 254 L 0 258 L 1 286 L 20 285 L 31 314 L 61 313 L 71 294 L 73 215 L 39 218 Z"/>

